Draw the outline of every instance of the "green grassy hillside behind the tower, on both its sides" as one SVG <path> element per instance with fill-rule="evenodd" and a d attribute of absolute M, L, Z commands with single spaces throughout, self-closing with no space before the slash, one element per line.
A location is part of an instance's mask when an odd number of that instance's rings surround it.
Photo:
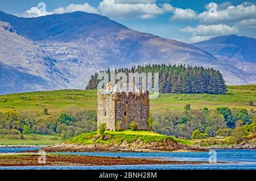
<path fill-rule="evenodd" d="M 249 106 L 249 100 L 256 104 L 256 85 L 228 86 L 228 92 L 224 95 L 210 94 L 160 94 L 158 99 L 150 100 L 151 112 L 162 110 L 183 110 L 185 104 L 191 104 L 192 110 L 215 109 L 217 107 L 237 107 L 247 110 L 256 109 Z M 87 110 L 96 110 L 96 90 L 61 90 L 28 92 L 22 94 L 0 95 L 0 111 L 16 110 L 22 112 L 43 115 L 43 109 L 48 108 L 48 116 L 56 116 L 70 107 L 80 107 Z"/>

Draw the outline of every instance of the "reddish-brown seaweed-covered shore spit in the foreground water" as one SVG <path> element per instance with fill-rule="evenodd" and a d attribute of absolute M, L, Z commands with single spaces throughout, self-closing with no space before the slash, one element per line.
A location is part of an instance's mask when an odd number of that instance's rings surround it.
<path fill-rule="evenodd" d="M 46 154 L 46 162 L 39 162 L 39 154 L 0 155 L 0 166 L 113 166 L 113 165 L 174 165 L 204 164 L 203 161 L 161 161 L 144 158 L 97 157 L 85 155 Z M 219 162 L 225 163 L 225 162 Z"/>

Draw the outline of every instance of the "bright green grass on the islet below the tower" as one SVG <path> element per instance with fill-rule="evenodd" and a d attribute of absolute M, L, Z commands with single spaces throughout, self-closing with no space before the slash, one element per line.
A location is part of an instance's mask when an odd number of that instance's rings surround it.
<path fill-rule="evenodd" d="M 182 144 L 192 144 L 192 142 L 187 140 L 181 140 L 175 138 L 173 136 L 164 136 L 162 134 L 156 134 L 151 131 L 118 131 L 118 132 L 110 132 L 106 131 L 105 136 L 108 137 L 106 141 L 103 141 L 101 138 L 98 138 L 95 142 L 93 142 L 94 138 L 96 138 L 98 132 L 93 133 L 83 133 L 79 136 L 73 137 L 67 141 L 68 144 L 122 144 L 122 142 L 126 141 L 127 143 L 132 143 L 136 140 L 141 140 L 144 144 L 148 142 L 163 142 L 167 139 L 171 139 L 174 142 L 180 142 Z"/>

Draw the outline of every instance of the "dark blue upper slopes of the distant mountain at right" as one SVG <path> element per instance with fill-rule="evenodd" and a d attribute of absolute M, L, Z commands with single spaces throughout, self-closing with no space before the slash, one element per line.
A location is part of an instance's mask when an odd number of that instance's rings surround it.
<path fill-rule="evenodd" d="M 214 55 L 256 64 L 256 39 L 229 35 L 192 44 Z"/>

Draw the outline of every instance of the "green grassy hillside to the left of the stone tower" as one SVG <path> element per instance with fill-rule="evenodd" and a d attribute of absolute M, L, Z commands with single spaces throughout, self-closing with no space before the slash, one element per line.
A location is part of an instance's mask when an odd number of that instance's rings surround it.
<path fill-rule="evenodd" d="M 21 94 L 0 95 L 0 111 L 23 111 L 43 115 L 47 108 L 49 115 L 58 115 L 69 107 L 81 107 L 96 110 L 96 90 L 60 90 L 27 92 Z"/>

